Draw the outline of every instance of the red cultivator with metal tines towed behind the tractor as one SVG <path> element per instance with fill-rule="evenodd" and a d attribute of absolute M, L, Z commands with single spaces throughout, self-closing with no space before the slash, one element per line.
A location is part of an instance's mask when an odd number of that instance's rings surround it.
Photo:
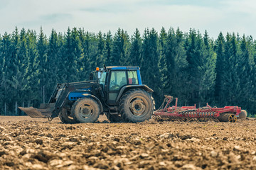
<path fill-rule="evenodd" d="M 178 107 L 178 98 L 176 98 L 175 106 L 169 106 L 173 100 L 174 97 L 165 95 L 163 104 L 154 112 L 154 118 L 158 120 L 201 119 L 235 123 L 238 117 L 245 118 L 247 114 L 246 111 L 241 111 L 241 108 L 238 106 L 212 108 L 207 103 L 202 108 L 196 108 L 196 105 Z M 164 103 L 166 103 L 165 106 Z"/>

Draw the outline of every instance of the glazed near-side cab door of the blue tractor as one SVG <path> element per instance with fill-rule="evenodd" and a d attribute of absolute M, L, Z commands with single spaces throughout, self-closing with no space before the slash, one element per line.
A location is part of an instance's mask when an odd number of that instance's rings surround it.
<path fill-rule="evenodd" d="M 128 84 L 127 82 L 127 72 L 125 70 L 117 70 L 110 72 L 110 81 L 109 81 L 109 93 L 108 93 L 108 103 L 114 105 L 117 95 L 119 94 L 119 89 L 122 86 Z"/>

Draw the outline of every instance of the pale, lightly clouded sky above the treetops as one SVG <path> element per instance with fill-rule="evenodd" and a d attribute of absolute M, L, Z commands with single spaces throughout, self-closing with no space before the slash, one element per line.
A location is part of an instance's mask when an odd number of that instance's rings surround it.
<path fill-rule="evenodd" d="M 40 28 L 65 33 L 84 28 L 114 34 L 118 28 L 132 35 L 136 28 L 160 32 L 164 27 L 208 31 L 216 39 L 220 32 L 256 38 L 255 0 L 0 0 L 0 35 Z"/>

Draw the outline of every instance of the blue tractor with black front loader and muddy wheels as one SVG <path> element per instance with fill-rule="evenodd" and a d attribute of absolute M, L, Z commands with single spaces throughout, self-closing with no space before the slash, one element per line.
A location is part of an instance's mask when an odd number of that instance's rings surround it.
<path fill-rule="evenodd" d="M 40 108 L 19 108 L 33 118 L 59 117 L 63 123 L 93 123 L 101 114 L 113 123 L 137 123 L 153 114 L 152 92 L 142 84 L 139 67 L 97 67 L 90 81 L 57 84 Z"/>

